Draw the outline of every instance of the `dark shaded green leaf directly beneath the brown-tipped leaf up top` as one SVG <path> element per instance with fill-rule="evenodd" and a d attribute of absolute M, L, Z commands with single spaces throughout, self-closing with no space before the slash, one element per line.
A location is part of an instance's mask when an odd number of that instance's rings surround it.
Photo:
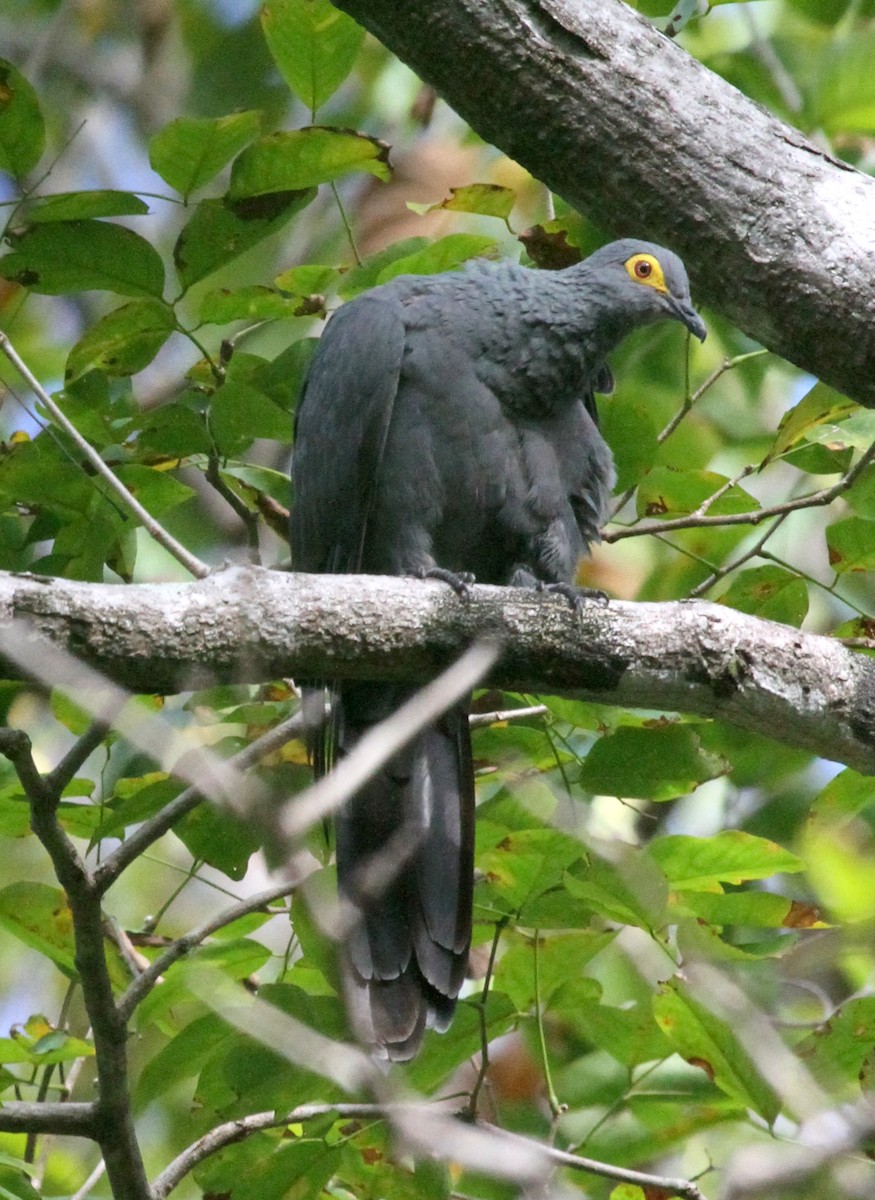
<path fill-rule="evenodd" d="M 182 287 L 190 288 L 277 233 L 314 196 L 314 191 L 304 190 L 240 202 L 227 197 L 202 200 L 173 250 Z"/>

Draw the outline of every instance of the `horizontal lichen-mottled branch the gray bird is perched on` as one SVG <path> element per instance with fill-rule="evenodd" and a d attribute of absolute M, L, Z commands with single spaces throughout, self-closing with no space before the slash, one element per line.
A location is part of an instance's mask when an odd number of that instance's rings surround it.
<path fill-rule="evenodd" d="M 706 601 L 575 613 L 522 588 L 463 601 L 443 583 L 254 566 L 136 586 L 0 574 L 0 644 L 20 640 L 19 620 L 139 692 L 287 676 L 416 683 L 491 638 L 497 686 L 715 716 L 875 773 L 871 659 Z M 0 670 L 20 678 L 8 654 Z"/>

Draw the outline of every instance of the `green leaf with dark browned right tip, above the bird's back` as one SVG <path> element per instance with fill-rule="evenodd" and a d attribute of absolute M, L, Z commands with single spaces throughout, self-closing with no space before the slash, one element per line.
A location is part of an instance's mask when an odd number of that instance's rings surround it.
<path fill-rule="evenodd" d="M 230 198 L 289 192 L 330 184 L 353 170 L 389 179 L 389 148 L 379 138 L 352 130 L 312 125 L 260 138 L 230 172 Z"/>

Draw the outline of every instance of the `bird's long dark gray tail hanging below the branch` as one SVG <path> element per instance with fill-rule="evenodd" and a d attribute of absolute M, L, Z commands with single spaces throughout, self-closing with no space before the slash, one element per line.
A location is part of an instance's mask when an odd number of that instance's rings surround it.
<path fill-rule="evenodd" d="M 343 684 L 336 756 L 409 695 L 391 684 Z M 365 1009 L 366 1036 L 390 1058 L 413 1057 L 426 1025 L 450 1022 L 468 961 L 473 875 L 466 702 L 390 758 L 337 818 L 353 1010 Z M 367 1004 L 355 1003 L 361 998 Z"/>

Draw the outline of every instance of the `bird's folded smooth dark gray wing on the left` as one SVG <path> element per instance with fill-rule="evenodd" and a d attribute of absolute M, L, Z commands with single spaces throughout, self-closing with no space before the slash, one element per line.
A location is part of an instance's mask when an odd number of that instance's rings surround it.
<path fill-rule="evenodd" d="M 361 565 L 404 350 L 401 305 L 366 295 L 341 308 L 316 352 L 295 416 L 292 509 L 296 571 Z"/>

